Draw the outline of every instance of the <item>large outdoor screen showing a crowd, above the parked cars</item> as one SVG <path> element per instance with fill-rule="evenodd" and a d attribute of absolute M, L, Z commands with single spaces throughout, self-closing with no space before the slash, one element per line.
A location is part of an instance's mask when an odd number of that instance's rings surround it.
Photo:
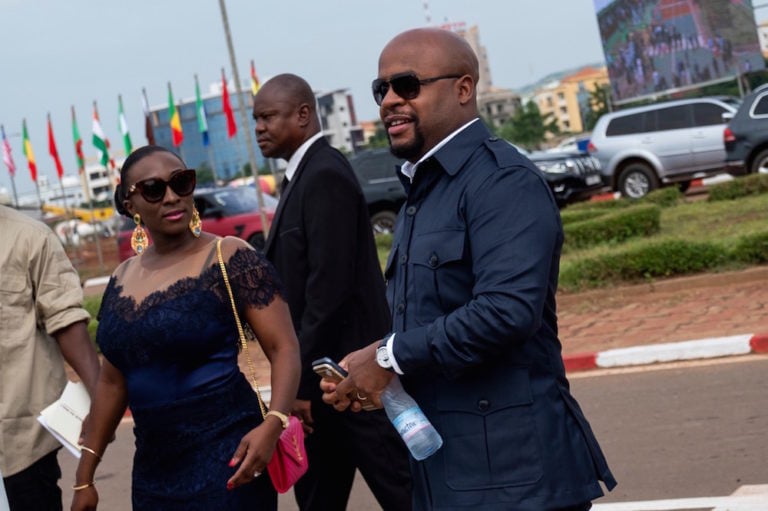
<path fill-rule="evenodd" d="M 750 0 L 594 0 L 616 104 L 765 67 Z"/>

